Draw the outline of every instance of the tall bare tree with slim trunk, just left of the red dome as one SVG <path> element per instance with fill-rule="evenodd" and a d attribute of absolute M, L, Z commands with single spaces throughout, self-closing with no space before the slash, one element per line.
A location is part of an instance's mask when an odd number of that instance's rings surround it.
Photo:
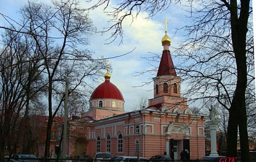
<path fill-rule="evenodd" d="M 20 13 L 22 32 L 32 36 L 44 61 L 49 115 L 44 156 L 49 157 L 52 120 L 64 101 L 63 76 L 69 78 L 69 94 L 81 94 L 81 87 L 88 87 L 84 79 L 94 80 L 104 60 L 93 60 L 90 51 L 79 49 L 88 45 L 87 37 L 93 28 L 86 10 L 79 8 L 76 1 L 54 1 L 52 5 L 29 2 Z"/>

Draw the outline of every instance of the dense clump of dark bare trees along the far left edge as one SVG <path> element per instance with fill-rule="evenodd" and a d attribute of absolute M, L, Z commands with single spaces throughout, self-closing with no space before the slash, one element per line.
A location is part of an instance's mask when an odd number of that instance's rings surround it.
<path fill-rule="evenodd" d="M 30 102 L 40 96 L 40 64 L 36 59 L 26 36 L 6 30 L 2 34 L 3 50 L 1 51 L 1 148 L 6 147 L 9 153 L 15 153 L 17 146 L 22 152 L 33 145 L 33 136 L 29 127 Z M 35 83 L 37 82 L 37 83 Z M 20 142 L 22 141 L 22 142 Z M 1 159 L 3 160 L 1 149 Z"/>

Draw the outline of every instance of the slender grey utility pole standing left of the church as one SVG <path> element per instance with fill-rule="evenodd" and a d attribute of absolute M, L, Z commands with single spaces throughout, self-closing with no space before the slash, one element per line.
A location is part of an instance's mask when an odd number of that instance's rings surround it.
<path fill-rule="evenodd" d="M 69 100 L 69 80 L 64 76 L 66 81 L 65 86 L 65 101 L 64 101 L 64 131 L 63 131 L 63 150 L 62 158 L 66 159 L 66 142 L 67 142 L 67 102 Z"/>

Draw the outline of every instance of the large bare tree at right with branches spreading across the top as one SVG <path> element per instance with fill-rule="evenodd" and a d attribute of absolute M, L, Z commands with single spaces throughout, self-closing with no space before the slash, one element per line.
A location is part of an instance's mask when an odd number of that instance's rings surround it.
<path fill-rule="evenodd" d="M 110 0 L 99 0 L 92 8 L 105 5 L 112 8 L 112 38 L 122 35 L 122 21 L 136 17 L 141 10 L 151 16 L 168 9 L 171 3 L 183 1 L 123 0 L 109 6 Z M 196 3 L 199 8 L 195 8 Z M 193 24 L 182 28 L 187 39 L 175 51 L 183 58 L 177 65 L 183 80 L 189 80 L 187 95 L 215 98 L 229 111 L 227 156 L 237 156 L 237 132 L 241 143 L 241 160 L 250 161 L 246 113 L 246 90 L 254 86 L 254 51 L 251 1 L 191 1 L 190 19 Z M 185 65 L 185 67 L 183 66 Z"/>

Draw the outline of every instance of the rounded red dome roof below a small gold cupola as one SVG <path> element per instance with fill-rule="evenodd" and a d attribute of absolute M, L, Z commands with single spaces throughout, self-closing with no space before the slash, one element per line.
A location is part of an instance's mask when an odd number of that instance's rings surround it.
<path fill-rule="evenodd" d="M 91 94 L 90 100 L 98 98 L 111 98 L 116 100 L 123 100 L 123 95 L 114 84 L 112 84 L 108 79 L 104 83 L 101 83 Z"/>

